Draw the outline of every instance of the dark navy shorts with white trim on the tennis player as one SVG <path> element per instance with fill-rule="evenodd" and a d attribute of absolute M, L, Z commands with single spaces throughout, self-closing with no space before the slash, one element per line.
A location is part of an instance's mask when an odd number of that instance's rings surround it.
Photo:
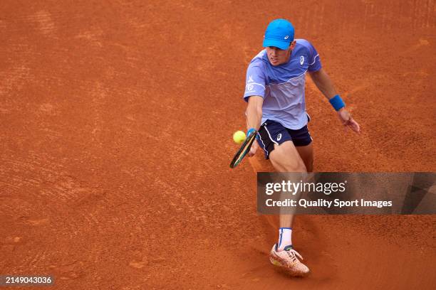
<path fill-rule="evenodd" d="M 294 146 L 307 146 L 312 143 L 312 137 L 307 125 L 298 130 L 283 127 L 276 121 L 266 120 L 256 136 L 257 143 L 264 149 L 265 158 L 274 150 L 274 144 L 280 145 L 285 141 L 292 141 Z"/>

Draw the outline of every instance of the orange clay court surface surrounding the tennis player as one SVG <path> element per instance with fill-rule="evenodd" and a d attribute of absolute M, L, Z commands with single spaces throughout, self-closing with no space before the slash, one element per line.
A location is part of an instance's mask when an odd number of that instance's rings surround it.
<path fill-rule="evenodd" d="M 435 216 L 294 224 L 306 279 L 276 272 L 235 169 L 246 67 L 266 25 L 315 45 L 362 134 L 308 80 L 315 171 L 435 171 L 435 1 L 0 4 L 0 274 L 54 289 L 433 289 Z M 53 289 L 53 288 L 52 288 Z"/>

